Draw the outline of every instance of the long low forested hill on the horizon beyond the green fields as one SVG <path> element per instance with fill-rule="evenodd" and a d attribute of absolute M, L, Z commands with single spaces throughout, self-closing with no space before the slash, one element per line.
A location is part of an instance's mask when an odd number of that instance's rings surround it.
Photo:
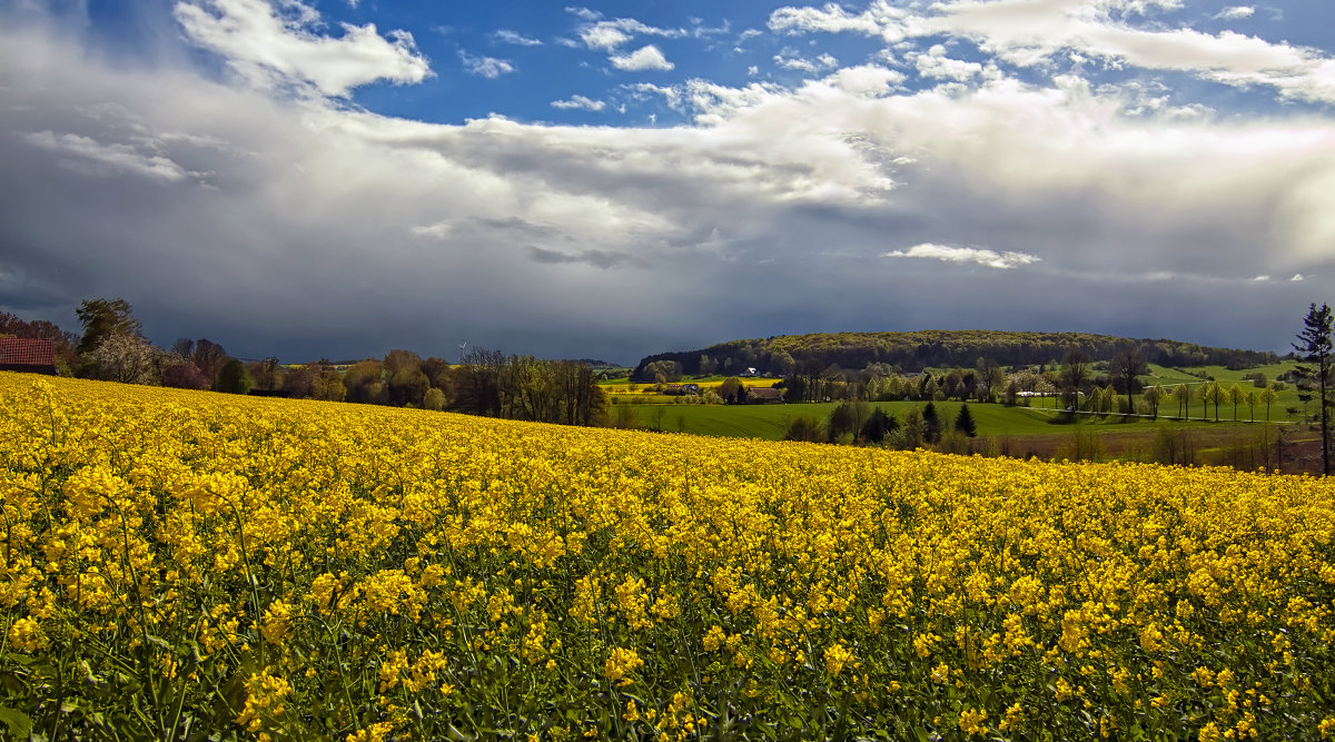
<path fill-rule="evenodd" d="M 1084 351 L 1093 360 L 1107 360 L 1128 343 L 1139 347 L 1147 362 L 1163 366 L 1247 367 L 1278 359 L 1272 352 L 1083 332 L 924 330 L 777 335 L 766 339 L 730 340 L 708 348 L 650 355 L 635 367 L 635 376 L 642 378 L 645 367 L 659 360 L 680 363 L 681 372 L 688 375 L 740 374 L 746 368 L 782 375 L 808 360 L 820 362 L 822 367 L 837 364 L 846 370 L 885 363 L 897 366 L 902 372 L 917 372 L 924 367 L 973 367 L 980 358 L 1003 366 L 1021 366 L 1060 360 L 1068 350 Z"/>

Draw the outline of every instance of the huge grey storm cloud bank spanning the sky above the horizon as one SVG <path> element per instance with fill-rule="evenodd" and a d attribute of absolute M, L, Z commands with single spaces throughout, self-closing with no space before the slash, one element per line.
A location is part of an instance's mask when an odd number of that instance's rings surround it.
<path fill-rule="evenodd" d="M 435 125 L 31 27 L 0 31 L 0 308 L 72 327 L 124 296 L 159 343 L 250 358 L 917 328 L 1283 348 L 1330 287 L 1319 119 L 1129 120 L 1000 80 L 686 85 L 698 127 Z"/>

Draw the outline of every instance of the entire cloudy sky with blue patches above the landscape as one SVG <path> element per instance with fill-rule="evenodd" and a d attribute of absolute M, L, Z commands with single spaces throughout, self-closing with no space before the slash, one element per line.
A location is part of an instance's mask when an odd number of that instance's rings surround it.
<path fill-rule="evenodd" d="M 1335 3 L 0 0 L 0 311 L 286 362 L 1335 300 Z"/>

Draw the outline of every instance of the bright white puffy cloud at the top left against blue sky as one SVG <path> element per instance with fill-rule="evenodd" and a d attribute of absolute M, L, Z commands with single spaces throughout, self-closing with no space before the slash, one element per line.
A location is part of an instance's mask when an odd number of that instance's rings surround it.
<path fill-rule="evenodd" d="M 316 33 L 320 15 L 299 0 L 279 12 L 264 0 L 195 0 L 174 12 L 186 35 L 222 55 L 227 64 L 262 88 L 312 84 L 320 93 L 346 96 L 376 80 L 419 83 L 430 75 L 413 36 L 375 25 L 343 24 L 339 37 Z"/>

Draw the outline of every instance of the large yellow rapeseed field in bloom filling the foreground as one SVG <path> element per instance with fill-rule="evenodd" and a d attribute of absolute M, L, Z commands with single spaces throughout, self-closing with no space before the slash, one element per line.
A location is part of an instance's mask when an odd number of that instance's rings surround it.
<path fill-rule="evenodd" d="M 1326 480 L 0 399 L 0 735 L 1335 733 Z"/>

